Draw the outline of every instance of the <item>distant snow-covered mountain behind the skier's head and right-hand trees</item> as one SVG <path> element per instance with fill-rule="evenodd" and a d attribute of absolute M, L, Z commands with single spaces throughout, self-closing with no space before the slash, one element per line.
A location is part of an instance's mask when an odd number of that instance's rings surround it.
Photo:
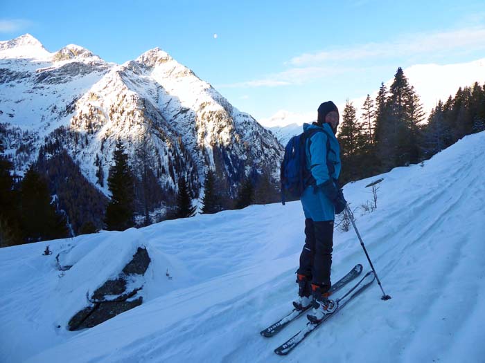
<path fill-rule="evenodd" d="M 429 115 L 439 100 L 445 102 L 450 95 L 455 96 L 459 87 L 473 86 L 475 82 L 485 80 L 485 58 L 458 64 L 417 64 L 405 68 L 404 74 L 409 84 L 414 86 L 418 93 L 425 113 Z M 385 82 L 387 89 L 392 82 L 394 82 L 394 78 Z M 369 94 L 375 100 L 378 90 Z M 351 100 L 355 106 L 355 111 L 357 111 L 357 117 L 362 114 L 361 108 L 366 97 L 367 95 L 362 95 L 362 97 Z M 317 106 L 315 106 L 315 109 L 317 109 Z M 345 102 L 338 103 L 337 107 L 342 112 Z M 303 122 L 312 122 L 316 118 L 317 111 L 299 114 L 281 110 L 271 118 L 258 120 L 258 122 L 271 130 L 282 145 L 286 145 L 292 136 L 301 133 Z"/>

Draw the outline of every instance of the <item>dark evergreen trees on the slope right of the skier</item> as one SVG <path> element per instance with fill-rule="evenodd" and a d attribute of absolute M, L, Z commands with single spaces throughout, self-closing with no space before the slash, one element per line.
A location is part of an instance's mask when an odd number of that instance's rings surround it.
<path fill-rule="evenodd" d="M 401 68 L 389 87 L 381 84 L 376 100 L 362 105 L 362 120 L 347 102 L 338 138 L 341 145 L 340 182 L 367 178 L 394 167 L 430 158 L 470 133 L 485 129 L 485 84 L 459 89 L 439 102 L 425 123 L 425 112 Z"/>

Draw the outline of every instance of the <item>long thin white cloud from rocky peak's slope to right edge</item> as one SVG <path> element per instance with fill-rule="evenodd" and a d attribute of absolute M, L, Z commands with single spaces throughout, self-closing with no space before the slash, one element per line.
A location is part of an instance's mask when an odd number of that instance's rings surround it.
<path fill-rule="evenodd" d="M 425 55 L 446 55 L 458 51 L 470 52 L 474 50 L 485 50 L 484 26 L 461 28 L 448 32 L 415 33 L 400 37 L 396 41 L 367 43 L 307 53 L 286 62 L 285 65 L 290 67 L 286 71 L 266 75 L 258 80 L 221 84 L 218 88 L 278 87 L 305 84 L 328 76 L 356 71 L 362 72 L 364 68 L 376 67 L 375 64 L 366 66 L 362 61 L 378 59 L 378 64 L 384 64 L 388 60 L 395 62 L 396 58 L 412 59 Z"/>

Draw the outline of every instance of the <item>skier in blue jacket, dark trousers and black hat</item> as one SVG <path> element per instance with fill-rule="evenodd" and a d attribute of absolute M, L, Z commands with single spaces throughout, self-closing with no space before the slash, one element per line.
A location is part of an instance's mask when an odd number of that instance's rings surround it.
<path fill-rule="evenodd" d="M 318 108 L 317 122 L 303 124 L 303 131 L 318 129 L 306 140 L 306 167 L 310 170 L 312 183 L 301 195 L 305 214 L 305 245 L 300 255 L 297 271 L 297 310 L 312 305 L 312 315 L 320 320 L 335 307 L 328 299 L 330 267 L 333 251 L 333 221 L 335 212 L 344 210 L 346 202 L 337 188 L 340 174 L 340 146 L 335 137 L 339 124 L 339 112 L 332 101 Z M 323 131 L 323 132 L 321 132 Z"/>

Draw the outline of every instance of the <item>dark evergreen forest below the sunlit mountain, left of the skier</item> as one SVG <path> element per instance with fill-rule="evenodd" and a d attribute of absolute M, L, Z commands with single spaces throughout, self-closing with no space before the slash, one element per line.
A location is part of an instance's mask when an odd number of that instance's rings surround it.
<path fill-rule="evenodd" d="M 109 169 L 107 178 L 107 187 L 112 194 L 109 200 L 82 176 L 79 166 L 64 149 L 70 138 L 81 147 L 88 142 L 87 135 L 82 133 L 64 128 L 55 130 L 46 138 L 37 161 L 21 183 L 15 183 L 11 175 L 12 162 L 3 156 L 1 149 L 1 245 L 92 233 L 102 228 L 125 230 L 134 226 L 134 215 L 137 213 L 144 216 L 143 225 L 148 225 L 151 223 L 150 211 L 159 207 L 162 201 L 173 205 L 172 212 L 169 208 L 166 218 L 195 214 L 196 207 L 192 201 L 197 198 L 199 187 L 194 185 L 193 169 L 187 174 L 179 173 L 183 167 L 181 158 L 175 158 L 175 163 L 171 167 L 169 165 L 174 177 L 177 176 L 179 180 L 175 193 L 171 187 L 159 185 L 148 142 L 142 142 L 136 149 L 130 165 L 123 144 L 118 140 L 114 165 Z M 0 140 L 3 139 L 1 136 Z M 186 153 L 184 158 L 189 163 Z M 95 166 L 97 183 L 103 187 L 106 179 L 99 155 L 96 155 Z M 220 170 L 210 170 L 206 174 L 204 189 L 206 192 L 202 198 L 201 212 L 208 214 L 242 208 L 252 203 L 279 201 L 279 191 L 269 170 L 264 170 L 262 174 L 254 172 L 245 178 L 236 198 L 229 195 L 229 180 L 224 178 Z"/>

